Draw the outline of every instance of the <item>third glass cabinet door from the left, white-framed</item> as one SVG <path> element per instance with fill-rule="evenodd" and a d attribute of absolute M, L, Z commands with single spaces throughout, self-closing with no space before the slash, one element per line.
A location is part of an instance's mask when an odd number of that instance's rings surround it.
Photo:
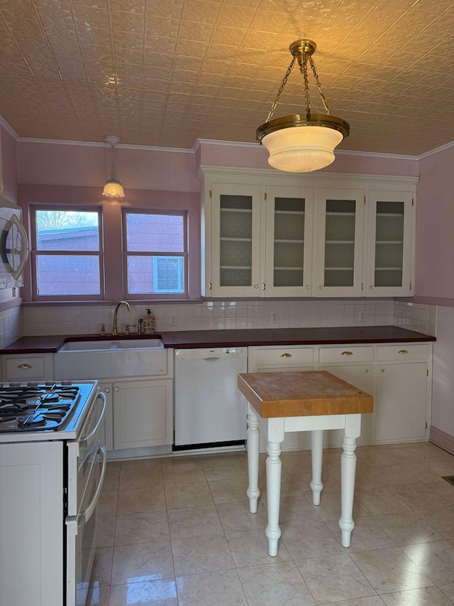
<path fill-rule="evenodd" d="M 316 296 L 361 296 L 363 221 L 362 190 L 321 190 Z"/>

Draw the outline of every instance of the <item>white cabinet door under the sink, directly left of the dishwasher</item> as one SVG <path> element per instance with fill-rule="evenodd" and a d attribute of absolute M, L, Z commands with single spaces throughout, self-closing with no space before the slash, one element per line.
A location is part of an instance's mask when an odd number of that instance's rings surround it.
<path fill-rule="evenodd" d="M 172 380 L 121 381 L 114 389 L 114 449 L 173 443 Z"/>

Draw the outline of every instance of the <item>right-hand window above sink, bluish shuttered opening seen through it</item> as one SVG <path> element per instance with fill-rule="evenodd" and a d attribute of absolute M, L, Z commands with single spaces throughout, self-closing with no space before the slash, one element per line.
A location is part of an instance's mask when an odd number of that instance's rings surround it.
<path fill-rule="evenodd" d="M 186 296 L 184 212 L 125 210 L 123 248 L 128 296 Z"/>

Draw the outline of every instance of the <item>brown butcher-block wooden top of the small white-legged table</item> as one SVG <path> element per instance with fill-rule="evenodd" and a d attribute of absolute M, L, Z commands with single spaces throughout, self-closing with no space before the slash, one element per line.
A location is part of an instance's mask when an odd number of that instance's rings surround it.
<path fill-rule="evenodd" d="M 373 411 L 370 394 L 326 370 L 238 374 L 238 389 L 262 418 Z"/>

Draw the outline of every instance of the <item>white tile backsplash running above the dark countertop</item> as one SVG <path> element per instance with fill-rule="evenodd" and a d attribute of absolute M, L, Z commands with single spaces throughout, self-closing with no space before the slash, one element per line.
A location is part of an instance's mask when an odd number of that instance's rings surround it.
<path fill-rule="evenodd" d="M 150 307 L 156 332 L 233 328 L 311 328 L 328 326 L 397 325 L 436 334 L 436 306 L 391 299 L 320 299 L 295 301 L 204 301 L 197 303 L 131 303 L 118 310 L 118 332 Z M 98 335 L 104 324 L 112 330 L 115 305 L 23 306 L 0 312 L 0 347 L 21 336 Z M 176 324 L 175 324 L 176 322 Z"/>

